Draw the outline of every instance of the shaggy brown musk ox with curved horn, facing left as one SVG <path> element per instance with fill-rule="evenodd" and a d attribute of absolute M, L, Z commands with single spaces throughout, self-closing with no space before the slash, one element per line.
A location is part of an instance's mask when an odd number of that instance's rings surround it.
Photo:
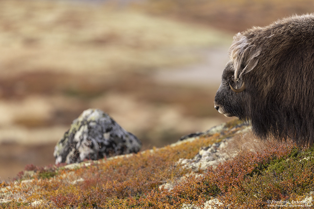
<path fill-rule="evenodd" d="M 314 14 L 238 33 L 215 108 L 251 121 L 260 138 L 314 143 Z"/>

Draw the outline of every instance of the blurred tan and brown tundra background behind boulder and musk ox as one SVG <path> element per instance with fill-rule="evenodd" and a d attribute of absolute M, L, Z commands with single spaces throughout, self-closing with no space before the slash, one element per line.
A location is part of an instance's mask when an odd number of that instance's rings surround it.
<path fill-rule="evenodd" d="M 230 120 L 214 95 L 237 32 L 310 0 L 0 0 L 0 182 L 88 108 L 161 147 Z"/>

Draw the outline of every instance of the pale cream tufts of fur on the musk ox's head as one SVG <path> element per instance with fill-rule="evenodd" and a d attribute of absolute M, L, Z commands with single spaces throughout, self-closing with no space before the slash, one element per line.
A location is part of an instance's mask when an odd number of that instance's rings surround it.
<path fill-rule="evenodd" d="M 229 56 L 235 70 L 235 81 L 239 81 L 243 74 L 254 69 L 257 65 L 258 55 L 260 55 L 260 53 L 261 50 L 257 49 L 255 45 L 251 45 L 246 36 L 241 33 L 233 37 L 233 42 L 229 49 Z M 244 60 L 246 63 L 244 63 Z"/>

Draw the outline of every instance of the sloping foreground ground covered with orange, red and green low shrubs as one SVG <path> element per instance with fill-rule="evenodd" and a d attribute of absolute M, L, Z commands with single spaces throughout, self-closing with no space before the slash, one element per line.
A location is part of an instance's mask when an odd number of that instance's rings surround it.
<path fill-rule="evenodd" d="M 296 201 L 311 205 L 314 148 L 259 141 L 260 150 L 250 151 L 244 149 L 256 143 L 247 134 L 250 128 L 237 122 L 223 127 L 138 154 L 45 168 L 28 165 L 15 181 L 1 184 L 0 208 L 275 208 L 270 205 L 275 201 L 287 203 L 285 208 L 289 203 L 296 208 Z M 238 146 L 238 154 L 217 168 L 192 172 L 178 163 L 208 144 L 235 137 L 238 145 L 230 146 Z"/>

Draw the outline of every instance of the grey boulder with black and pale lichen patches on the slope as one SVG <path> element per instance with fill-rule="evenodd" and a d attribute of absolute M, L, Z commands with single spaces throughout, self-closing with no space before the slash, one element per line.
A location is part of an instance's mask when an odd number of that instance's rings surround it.
<path fill-rule="evenodd" d="M 108 114 L 98 109 L 85 110 L 57 143 L 56 164 L 78 163 L 85 159 L 137 153 L 141 142 L 124 130 Z"/>

